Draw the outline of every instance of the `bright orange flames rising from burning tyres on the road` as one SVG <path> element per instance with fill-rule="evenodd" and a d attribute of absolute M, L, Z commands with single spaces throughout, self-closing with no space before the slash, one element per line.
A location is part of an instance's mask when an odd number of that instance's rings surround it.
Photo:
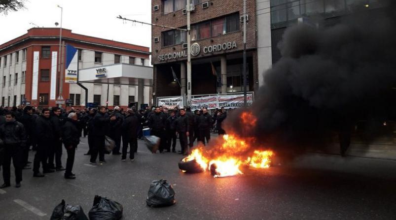
<path fill-rule="evenodd" d="M 241 119 L 248 126 L 248 129 L 252 129 L 257 122 L 251 112 L 242 113 Z M 269 168 L 274 152 L 255 150 L 250 153 L 251 144 L 254 142 L 253 137 L 240 137 L 232 133 L 226 134 L 222 136 L 220 143 L 212 150 L 205 150 L 203 147 L 196 148 L 182 161 L 187 162 L 195 159 L 203 170 L 210 171 L 214 177 L 243 174 L 240 170 L 241 165 Z M 249 155 L 250 157 L 248 157 Z"/>

